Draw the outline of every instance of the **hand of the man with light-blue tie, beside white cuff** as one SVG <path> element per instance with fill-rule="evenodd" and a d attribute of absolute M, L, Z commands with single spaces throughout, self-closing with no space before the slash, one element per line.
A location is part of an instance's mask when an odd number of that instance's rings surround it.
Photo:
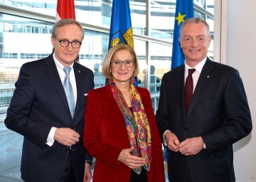
<path fill-rule="evenodd" d="M 53 139 L 65 146 L 75 145 L 79 141 L 80 135 L 70 128 L 58 128 L 55 131 Z"/>

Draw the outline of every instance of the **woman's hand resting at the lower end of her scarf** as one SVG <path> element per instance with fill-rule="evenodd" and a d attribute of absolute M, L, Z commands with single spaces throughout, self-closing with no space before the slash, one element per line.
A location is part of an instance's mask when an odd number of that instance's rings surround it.
<path fill-rule="evenodd" d="M 127 165 L 129 168 L 138 168 L 145 164 L 145 159 L 132 156 L 131 152 L 133 151 L 134 147 L 132 146 L 129 149 L 122 149 L 120 152 L 117 161 L 121 161 L 123 164 Z"/>

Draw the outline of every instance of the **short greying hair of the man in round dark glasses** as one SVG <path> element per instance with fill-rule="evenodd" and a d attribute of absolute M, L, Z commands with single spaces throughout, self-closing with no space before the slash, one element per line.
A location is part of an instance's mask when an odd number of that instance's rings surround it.
<path fill-rule="evenodd" d="M 61 26 L 66 26 L 66 25 L 70 25 L 70 24 L 75 24 L 77 26 L 80 27 L 81 31 L 82 31 L 82 39 L 84 38 L 85 36 L 85 31 L 84 29 L 82 28 L 82 25 L 81 23 L 79 23 L 78 21 L 75 21 L 74 19 L 72 18 L 67 18 L 67 19 L 61 19 L 59 21 L 57 21 L 54 25 L 53 25 L 53 28 L 52 28 L 52 37 L 56 37 L 57 36 L 57 31 L 58 31 L 58 28 L 61 27 Z"/>

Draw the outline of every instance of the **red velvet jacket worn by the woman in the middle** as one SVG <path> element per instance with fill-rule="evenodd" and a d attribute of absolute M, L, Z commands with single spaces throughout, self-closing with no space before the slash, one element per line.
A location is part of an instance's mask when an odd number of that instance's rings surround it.
<path fill-rule="evenodd" d="M 137 87 L 149 119 L 152 158 L 148 182 L 164 182 L 164 161 L 159 130 L 151 105 L 149 91 Z M 129 182 L 131 168 L 117 161 L 122 149 L 128 149 L 129 139 L 124 117 L 114 100 L 110 85 L 88 92 L 85 109 L 85 149 L 96 159 L 93 181 Z"/>

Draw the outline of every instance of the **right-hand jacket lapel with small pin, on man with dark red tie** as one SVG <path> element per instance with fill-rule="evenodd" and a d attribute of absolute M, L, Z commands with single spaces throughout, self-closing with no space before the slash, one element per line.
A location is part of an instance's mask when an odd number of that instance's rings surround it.
<path fill-rule="evenodd" d="M 198 79 L 198 83 L 196 85 L 196 89 L 193 92 L 193 97 L 191 100 L 191 105 L 189 106 L 188 109 L 188 115 L 191 113 L 191 111 L 193 110 L 193 108 L 196 106 L 196 103 L 198 102 L 198 100 L 202 97 L 202 95 L 204 94 L 206 88 L 208 87 L 210 80 L 213 79 L 213 63 L 211 62 L 210 59 L 207 58 L 205 65 L 203 66 L 202 72 L 200 74 L 200 77 Z"/>

